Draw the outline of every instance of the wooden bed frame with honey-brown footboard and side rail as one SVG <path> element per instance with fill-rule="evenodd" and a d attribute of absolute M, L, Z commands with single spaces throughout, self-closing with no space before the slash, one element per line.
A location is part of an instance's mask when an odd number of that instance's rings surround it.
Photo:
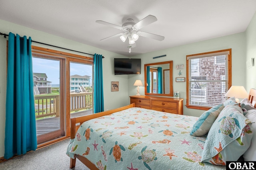
<path fill-rule="evenodd" d="M 256 107 L 256 90 L 255 89 L 250 89 L 250 93 L 248 96 L 248 100 L 252 103 L 252 105 L 254 107 Z M 100 113 L 96 113 L 96 114 L 92 114 L 92 115 L 86 115 L 86 116 L 81 116 L 81 117 L 74 117 L 70 119 L 70 126 L 71 126 L 71 135 L 70 135 L 70 139 L 74 139 L 76 137 L 76 131 L 78 130 L 78 128 L 80 127 L 80 125 L 84 122 L 84 121 L 88 121 L 90 119 L 94 119 L 97 117 L 101 117 L 101 116 L 105 116 L 105 115 L 109 115 L 118 111 L 122 111 L 124 109 L 128 109 L 131 107 L 135 107 L 135 104 L 130 104 L 128 106 L 124 106 L 124 107 L 120 107 L 117 109 L 112 109 L 109 111 L 102 111 Z M 79 126 L 76 126 L 76 123 L 79 123 Z M 83 164 L 85 164 L 88 168 L 90 168 L 90 170 L 99 170 L 92 162 L 90 162 L 87 158 L 85 158 L 84 156 L 81 155 L 77 155 L 75 156 L 74 159 L 70 158 L 70 168 L 74 168 L 76 165 L 76 158 L 78 158 Z"/>

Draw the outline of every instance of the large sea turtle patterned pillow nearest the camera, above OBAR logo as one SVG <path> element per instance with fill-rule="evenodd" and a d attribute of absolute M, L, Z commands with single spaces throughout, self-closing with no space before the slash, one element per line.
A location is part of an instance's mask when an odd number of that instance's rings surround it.
<path fill-rule="evenodd" d="M 251 123 L 244 117 L 241 107 L 224 107 L 208 133 L 201 162 L 225 165 L 226 161 L 238 160 L 250 147 Z"/>

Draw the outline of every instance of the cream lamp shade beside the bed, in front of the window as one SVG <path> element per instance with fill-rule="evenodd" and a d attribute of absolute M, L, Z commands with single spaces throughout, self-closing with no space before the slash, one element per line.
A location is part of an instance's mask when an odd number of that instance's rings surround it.
<path fill-rule="evenodd" d="M 247 98 L 248 94 L 244 86 L 231 86 L 228 92 L 225 94 L 225 96 L 229 98 L 234 97 L 234 98 L 243 99 L 243 98 Z"/>

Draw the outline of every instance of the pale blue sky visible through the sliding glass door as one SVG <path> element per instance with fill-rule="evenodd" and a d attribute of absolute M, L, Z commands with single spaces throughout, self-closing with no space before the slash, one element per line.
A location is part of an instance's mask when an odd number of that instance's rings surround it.
<path fill-rule="evenodd" d="M 45 73 L 47 80 L 52 84 L 60 84 L 60 62 L 57 60 L 40 59 L 33 57 L 33 72 Z M 91 76 L 92 66 L 87 64 L 70 63 L 70 76 L 78 74 L 80 76 Z M 92 82 L 92 80 L 90 80 Z"/>

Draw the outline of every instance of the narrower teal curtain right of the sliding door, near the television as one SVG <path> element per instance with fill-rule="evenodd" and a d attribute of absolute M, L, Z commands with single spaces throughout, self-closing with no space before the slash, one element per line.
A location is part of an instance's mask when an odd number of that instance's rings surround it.
<path fill-rule="evenodd" d="M 102 55 L 94 54 L 94 113 L 104 111 Z"/>

